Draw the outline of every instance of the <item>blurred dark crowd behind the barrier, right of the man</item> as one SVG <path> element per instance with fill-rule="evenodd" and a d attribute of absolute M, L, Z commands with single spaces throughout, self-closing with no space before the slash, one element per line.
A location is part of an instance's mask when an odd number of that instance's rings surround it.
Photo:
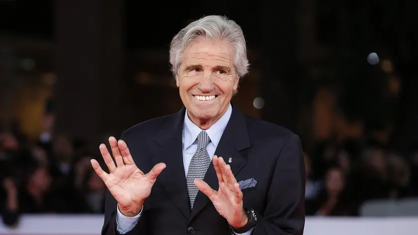
<path fill-rule="evenodd" d="M 368 200 L 418 197 L 418 149 L 407 155 L 364 139 L 317 143 L 305 155 L 306 214 L 361 216 Z"/>

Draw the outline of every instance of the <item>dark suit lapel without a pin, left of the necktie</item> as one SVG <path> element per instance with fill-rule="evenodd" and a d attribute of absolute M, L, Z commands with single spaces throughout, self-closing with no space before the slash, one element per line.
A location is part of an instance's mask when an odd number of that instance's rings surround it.
<path fill-rule="evenodd" d="M 183 108 L 162 127 L 154 137 L 153 164 L 164 162 L 167 167 L 158 176 L 169 197 L 179 210 L 189 218 L 190 204 L 183 164 L 182 134 L 185 115 Z"/>

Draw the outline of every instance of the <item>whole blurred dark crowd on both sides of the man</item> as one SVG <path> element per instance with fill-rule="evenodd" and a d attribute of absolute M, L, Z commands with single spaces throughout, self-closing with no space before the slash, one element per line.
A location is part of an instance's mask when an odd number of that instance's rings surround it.
<path fill-rule="evenodd" d="M 90 164 L 101 157 L 82 140 L 53 135 L 54 121 L 45 112 L 35 143 L 18 125 L 0 131 L 0 212 L 8 226 L 21 214 L 104 213 L 105 185 Z M 322 141 L 306 151 L 305 164 L 310 216 L 359 216 L 367 200 L 418 196 L 418 149 L 401 156 L 361 138 Z"/>

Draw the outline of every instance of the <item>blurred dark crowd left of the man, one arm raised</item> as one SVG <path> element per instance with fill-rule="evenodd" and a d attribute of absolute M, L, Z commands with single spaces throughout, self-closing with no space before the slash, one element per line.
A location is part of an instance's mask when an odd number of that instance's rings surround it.
<path fill-rule="evenodd" d="M 36 143 L 17 125 L 0 132 L 0 212 L 8 226 L 21 214 L 104 213 L 105 185 L 90 163 L 100 158 L 82 140 L 52 136 L 54 121 L 45 113 Z"/>

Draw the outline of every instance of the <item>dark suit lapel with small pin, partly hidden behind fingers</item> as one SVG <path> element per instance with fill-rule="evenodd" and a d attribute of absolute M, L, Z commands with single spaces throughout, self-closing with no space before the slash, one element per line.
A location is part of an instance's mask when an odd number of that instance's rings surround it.
<path fill-rule="evenodd" d="M 236 175 L 247 163 L 246 157 L 242 155 L 242 150 L 249 148 L 250 146 L 245 117 L 232 104 L 232 114 L 223 131 L 219 144 L 216 147 L 215 155 L 222 157 L 226 164 L 231 166 L 232 173 Z M 232 160 L 231 163 L 228 163 L 229 158 Z M 204 181 L 208 183 L 212 189 L 218 190 L 219 184 L 213 164 L 210 164 Z M 195 218 L 209 203 L 211 203 L 209 198 L 202 192 L 199 192 L 193 206 L 193 211 L 190 215 L 190 221 L 193 220 L 193 218 Z"/>

